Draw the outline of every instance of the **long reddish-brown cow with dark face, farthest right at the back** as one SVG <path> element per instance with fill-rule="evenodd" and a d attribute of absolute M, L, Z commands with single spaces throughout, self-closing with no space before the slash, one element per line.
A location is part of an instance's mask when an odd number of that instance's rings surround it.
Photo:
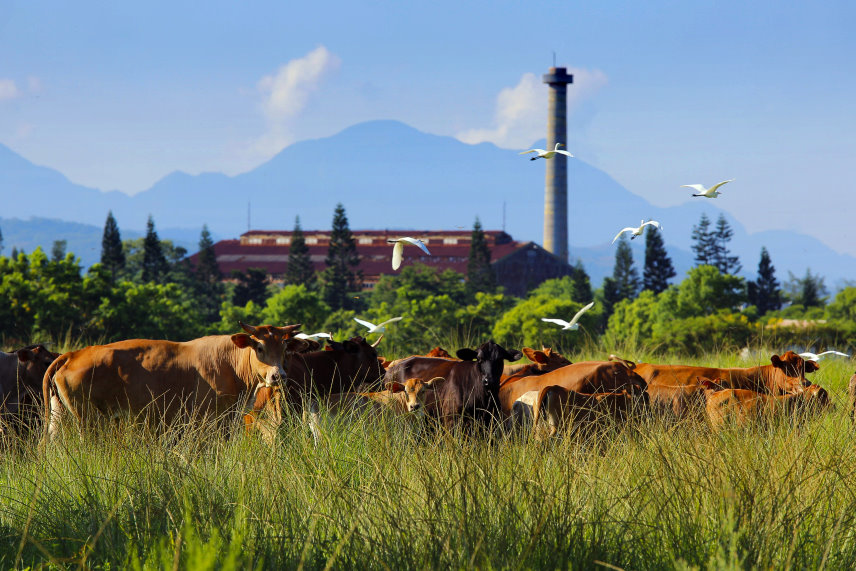
<path fill-rule="evenodd" d="M 733 389 L 749 389 L 770 394 L 801 392 L 806 386 L 806 373 L 818 370 L 817 363 L 805 361 L 788 351 L 773 355 L 771 365 L 741 368 L 696 367 L 692 365 L 654 365 L 639 363 L 635 371 L 648 385 L 681 386 L 698 384 L 698 378 L 719 379 Z"/>

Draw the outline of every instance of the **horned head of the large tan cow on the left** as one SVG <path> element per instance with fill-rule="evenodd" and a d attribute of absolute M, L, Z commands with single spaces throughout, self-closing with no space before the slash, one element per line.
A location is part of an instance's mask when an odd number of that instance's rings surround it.
<path fill-rule="evenodd" d="M 273 325 L 247 325 L 238 322 L 246 333 L 232 335 L 232 343 L 240 349 L 250 348 L 259 363 L 270 367 L 264 374 L 265 386 L 275 386 L 285 380 L 286 353 L 299 353 L 310 346 L 306 339 L 295 337 L 300 324 L 275 327 Z"/>

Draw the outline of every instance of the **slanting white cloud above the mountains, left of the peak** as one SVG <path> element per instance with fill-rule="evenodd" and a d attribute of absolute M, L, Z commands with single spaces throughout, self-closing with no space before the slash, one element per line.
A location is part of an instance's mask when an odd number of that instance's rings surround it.
<path fill-rule="evenodd" d="M 324 76 L 337 69 L 339 64 L 338 57 L 319 46 L 258 82 L 258 90 L 263 96 L 262 111 L 268 120 L 267 133 L 256 143 L 258 152 L 270 155 L 292 142 L 290 121 L 304 109 L 309 95 L 318 89 Z"/>

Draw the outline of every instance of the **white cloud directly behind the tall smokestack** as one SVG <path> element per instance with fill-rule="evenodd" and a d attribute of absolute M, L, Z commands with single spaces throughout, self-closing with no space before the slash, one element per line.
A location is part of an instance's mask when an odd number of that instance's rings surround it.
<path fill-rule="evenodd" d="M 568 114 L 606 85 L 602 71 L 570 68 L 573 85 L 568 87 Z M 464 143 L 491 142 L 499 147 L 525 147 L 547 132 L 547 87 L 534 73 L 525 73 L 514 87 L 506 87 L 496 97 L 493 127 L 458 133 Z"/>

